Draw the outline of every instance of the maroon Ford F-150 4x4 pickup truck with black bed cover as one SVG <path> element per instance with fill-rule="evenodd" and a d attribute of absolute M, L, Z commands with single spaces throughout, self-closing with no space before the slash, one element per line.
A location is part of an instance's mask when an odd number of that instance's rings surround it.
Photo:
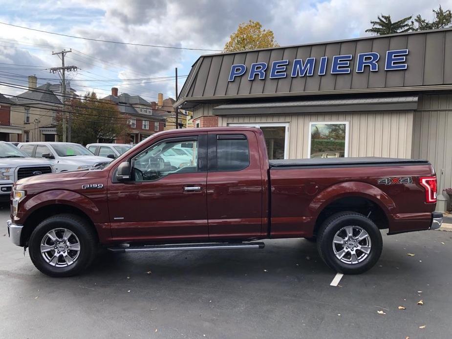
<path fill-rule="evenodd" d="M 44 274 L 75 275 L 114 252 L 263 248 L 317 241 L 333 270 L 358 274 L 388 234 L 436 229 L 425 160 L 272 160 L 258 128 L 160 132 L 98 170 L 19 180 L 8 233 Z"/>

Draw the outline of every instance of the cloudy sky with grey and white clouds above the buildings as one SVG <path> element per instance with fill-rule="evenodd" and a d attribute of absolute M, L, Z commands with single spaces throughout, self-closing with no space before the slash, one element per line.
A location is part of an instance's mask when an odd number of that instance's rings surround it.
<path fill-rule="evenodd" d="M 441 4 L 452 8 L 452 0 Z M 381 13 L 393 20 L 417 14 L 431 20 L 437 6 L 427 0 L 0 0 L 0 22 L 93 39 L 221 50 L 248 20 L 273 30 L 280 45 L 292 45 L 366 36 L 369 21 Z M 162 78 L 173 76 L 174 67 L 182 76 L 180 88 L 198 56 L 212 53 L 93 42 L 0 24 L 0 82 L 26 85 L 26 76 L 35 74 L 39 84 L 56 83 L 45 68 L 61 65 L 51 52 L 62 48 L 73 50 L 66 64 L 79 67 L 68 76 L 79 94 L 94 90 L 103 97 L 117 86 L 120 93 L 150 101 L 158 92 L 174 97 L 174 80 Z M 0 85 L 0 92 L 20 90 Z"/>

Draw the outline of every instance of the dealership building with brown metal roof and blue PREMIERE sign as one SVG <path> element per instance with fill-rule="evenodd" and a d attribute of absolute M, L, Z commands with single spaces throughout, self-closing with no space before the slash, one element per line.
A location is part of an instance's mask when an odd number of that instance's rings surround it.
<path fill-rule="evenodd" d="M 201 56 L 175 107 L 262 129 L 272 159 L 428 159 L 452 187 L 452 29 Z"/>

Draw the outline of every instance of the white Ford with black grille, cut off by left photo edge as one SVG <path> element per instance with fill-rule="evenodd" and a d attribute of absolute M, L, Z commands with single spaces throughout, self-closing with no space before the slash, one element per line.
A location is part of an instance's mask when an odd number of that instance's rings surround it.
<path fill-rule="evenodd" d="M 16 146 L 0 141 L 0 199 L 9 200 L 13 184 L 28 176 L 53 173 L 55 170 L 45 159 L 28 157 Z"/>

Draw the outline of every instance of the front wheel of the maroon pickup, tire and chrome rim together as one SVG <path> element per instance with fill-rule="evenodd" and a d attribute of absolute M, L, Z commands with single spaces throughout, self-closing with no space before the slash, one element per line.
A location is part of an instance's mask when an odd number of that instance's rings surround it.
<path fill-rule="evenodd" d="M 97 236 L 85 219 L 58 214 L 43 220 L 28 243 L 36 268 L 46 275 L 62 277 L 79 274 L 92 262 Z"/>

